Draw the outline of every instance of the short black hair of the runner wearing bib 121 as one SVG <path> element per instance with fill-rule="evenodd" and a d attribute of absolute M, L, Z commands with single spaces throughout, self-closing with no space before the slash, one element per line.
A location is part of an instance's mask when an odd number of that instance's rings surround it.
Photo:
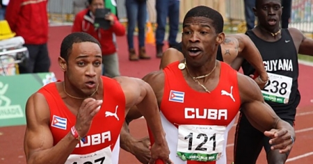
<path fill-rule="evenodd" d="M 191 8 L 191 10 L 188 10 L 184 17 L 183 26 L 185 25 L 186 19 L 189 17 L 207 17 L 213 21 L 216 33 L 223 32 L 224 19 L 222 15 L 220 15 L 220 13 L 213 8 L 209 8 L 207 6 L 196 6 L 195 8 Z"/>

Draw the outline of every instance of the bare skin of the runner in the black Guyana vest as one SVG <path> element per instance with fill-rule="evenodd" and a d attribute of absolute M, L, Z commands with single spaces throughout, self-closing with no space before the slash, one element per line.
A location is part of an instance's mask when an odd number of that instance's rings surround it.
<path fill-rule="evenodd" d="M 257 1 L 256 8 L 253 8 L 255 16 L 258 17 L 258 25 L 252 29 L 258 38 L 266 42 L 276 42 L 282 38 L 281 33 L 275 37 L 271 33 L 277 33 L 280 30 L 280 19 L 282 15 L 282 6 L 280 0 L 260 0 Z M 270 24 L 269 19 L 273 19 L 275 24 Z M 313 56 L 313 40 L 306 38 L 301 31 L 296 28 L 288 28 L 294 46 L 298 54 Z M 274 43 L 273 43 L 274 44 Z M 242 58 L 237 58 L 235 63 L 241 65 Z M 272 150 L 267 154 L 268 163 L 284 163 L 287 160 L 287 154 L 280 154 L 277 150 Z"/>

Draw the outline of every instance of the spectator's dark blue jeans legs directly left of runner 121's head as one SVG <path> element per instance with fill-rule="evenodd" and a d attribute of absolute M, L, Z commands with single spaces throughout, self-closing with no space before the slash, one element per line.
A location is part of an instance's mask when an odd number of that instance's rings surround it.
<path fill-rule="evenodd" d="M 157 0 L 157 58 L 161 58 L 163 54 L 163 41 L 166 33 L 166 22 L 170 26 L 170 33 L 168 35 L 169 47 L 173 47 L 177 44 L 176 38 L 179 26 L 179 0 Z"/>

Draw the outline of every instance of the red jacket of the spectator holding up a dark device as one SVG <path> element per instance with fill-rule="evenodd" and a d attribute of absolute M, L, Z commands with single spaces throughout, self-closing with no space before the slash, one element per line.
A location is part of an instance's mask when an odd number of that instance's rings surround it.
<path fill-rule="evenodd" d="M 116 52 L 116 47 L 113 42 L 113 33 L 117 36 L 125 35 L 125 27 L 118 22 L 118 18 L 114 16 L 115 22 L 111 28 L 104 30 L 93 26 L 94 19 L 90 16 L 88 9 L 79 12 L 74 20 L 72 32 L 86 32 L 93 35 L 99 40 L 102 47 L 102 55 L 110 55 Z"/>

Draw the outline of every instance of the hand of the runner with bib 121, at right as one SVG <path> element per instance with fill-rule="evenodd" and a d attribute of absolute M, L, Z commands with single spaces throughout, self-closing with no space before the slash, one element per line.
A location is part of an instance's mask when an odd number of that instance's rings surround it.
<path fill-rule="evenodd" d="M 271 149 L 280 149 L 280 153 L 284 154 L 291 150 L 294 145 L 294 137 L 287 129 L 271 129 L 271 131 L 264 131 L 264 135 L 271 138 L 269 144 Z"/>

